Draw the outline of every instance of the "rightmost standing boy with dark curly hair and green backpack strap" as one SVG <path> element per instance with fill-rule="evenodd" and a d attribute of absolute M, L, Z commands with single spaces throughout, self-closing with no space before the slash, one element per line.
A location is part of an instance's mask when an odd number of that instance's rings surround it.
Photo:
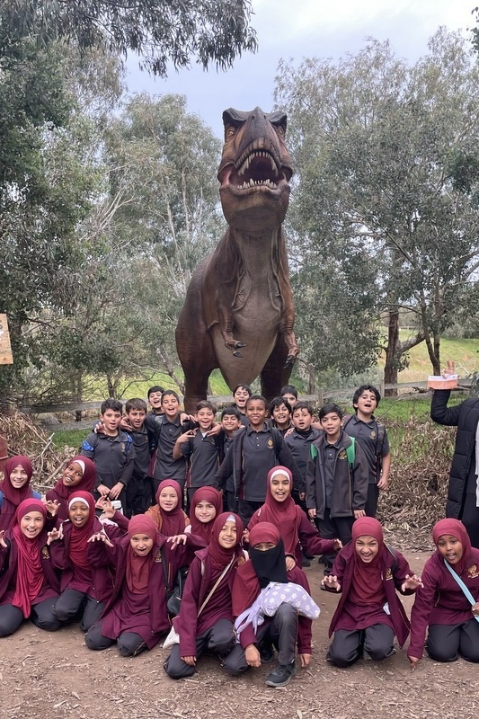
<path fill-rule="evenodd" d="M 355 414 L 344 417 L 343 429 L 357 439 L 368 461 L 369 484 L 366 514 L 376 517 L 379 490 L 387 489 L 391 452 L 386 427 L 377 422 L 374 412 L 381 395 L 372 385 L 361 385 L 352 397 Z"/>

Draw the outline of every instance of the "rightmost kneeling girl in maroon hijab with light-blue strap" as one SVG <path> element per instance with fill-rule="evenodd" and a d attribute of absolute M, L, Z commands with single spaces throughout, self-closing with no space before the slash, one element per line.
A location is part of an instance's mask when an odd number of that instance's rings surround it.
<path fill-rule="evenodd" d="M 440 519 L 432 538 L 437 549 L 424 565 L 411 613 L 407 655 L 412 670 L 421 661 L 426 629 L 434 661 L 455 661 L 458 655 L 479 661 L 479 549 L 471 546 L 458 519 Z M 464 582 L 469 598 L 455 577 Z"/>

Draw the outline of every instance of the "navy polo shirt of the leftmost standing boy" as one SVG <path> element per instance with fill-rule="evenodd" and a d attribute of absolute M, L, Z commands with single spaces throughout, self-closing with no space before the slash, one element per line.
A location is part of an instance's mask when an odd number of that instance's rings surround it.
<path fill-rule="evenodd" d="M 99 484 L 111 488 L 117 482 L 125 486 L 129 483 L 136 452 L 127 432 L 120 430 L 115 437 L 90 432 L 82 444 L 80 455 L 93 459 L 96 467 L 95 489 Z"/>

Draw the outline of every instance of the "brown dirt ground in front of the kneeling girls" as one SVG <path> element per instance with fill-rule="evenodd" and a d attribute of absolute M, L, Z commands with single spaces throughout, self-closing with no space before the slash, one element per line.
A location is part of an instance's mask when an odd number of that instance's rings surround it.
<path fill-rule="evenodd" d="M 404 554 L 412 569 L 421 572 L 428 554 Z M 288 687 L 265 686 L 274 664 L 233 679 L 213 657 L 200 659 L 194 678 L 173 681 L 163 670 L 167 652 L 159 647 L 123 659 L 115 648 L 89 651 L 77 625 L 49 635 L 26 623 L 17 634 L 1 640 L 0 717 L 384 719 L 395 714 L 402 719 L 468 719 L 477 715 L 479 671 L 466 661 L 439 664 L 424 659 L 412 673 L 405 652 L 398 649 L 382 663 L 361 660 L 349 670 L 328 664 L 327 629 L 337 599 L 319 590 L 322 565 L 312 562 L 306 572 L 322 614 L 314 623 L 313 661 L 309 668 L 298 669 Z M 408 610 L 411 603 L 404 598 Z"/>

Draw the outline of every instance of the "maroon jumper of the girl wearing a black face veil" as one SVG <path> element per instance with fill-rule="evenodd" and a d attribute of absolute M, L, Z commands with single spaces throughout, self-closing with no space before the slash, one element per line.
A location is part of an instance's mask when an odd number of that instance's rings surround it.
<path fill-rule="evenodd" d="M 245 609 L 248 609 L 249 607 L 244 607 L 244 603 L 242 602 L 242 597 L 244 596 L 244 591 L 241 590 L 241 586 L 244 584 L 244 574 L 248 576 L 250 574 L 248 564 L 250 564 L 251 559 L 248 560 L 248 562 L 242 564 L 235 573 L 235 580 L 233 581 L 233 616 L 239 617 L 240 614 L 244 612 Z M 292 581 L 295 584 L 299 584 L 300 587 L 303 587 L 307 591 L 308 594 L 311 594 L 311 590 L 309 589 L 309 584 L 306 579 L 306 574 L 303 572 L 302 569 L 299 569 L 299 567 L 294 567 L 289 572 L 286 573 L 288 577 L 288 581 Z M 256 600 L 260 593 L 260 582 L 257 578 L 254 578 L 254 581 L 256 582 L 256 588 L 255 588 L 255 594 L 254 597 L 250 603 L 250 607 L 253 605 L 253 602 Z M 268 624 L 271 622 L 270 617 L 264 617 L 264 624 L 263 626 L 268 626 Z M 313 622 L 311 619 L 308 619 L 307 617 L 304 617 L 303 615 L 299 615 L 297 617 L 297 653 L 298 654 L 311 654 L 311 638 L 312 638 L 312 627 Z M 242 631 L 240 635 L 240 644 L 243 647 L 243 649 L 246 649 L 248 644 L 256 644 L 257 639 L 256 635 L 254 634 L 253 624 L 249 624 L 244 627 L 244 630 Z"/>

